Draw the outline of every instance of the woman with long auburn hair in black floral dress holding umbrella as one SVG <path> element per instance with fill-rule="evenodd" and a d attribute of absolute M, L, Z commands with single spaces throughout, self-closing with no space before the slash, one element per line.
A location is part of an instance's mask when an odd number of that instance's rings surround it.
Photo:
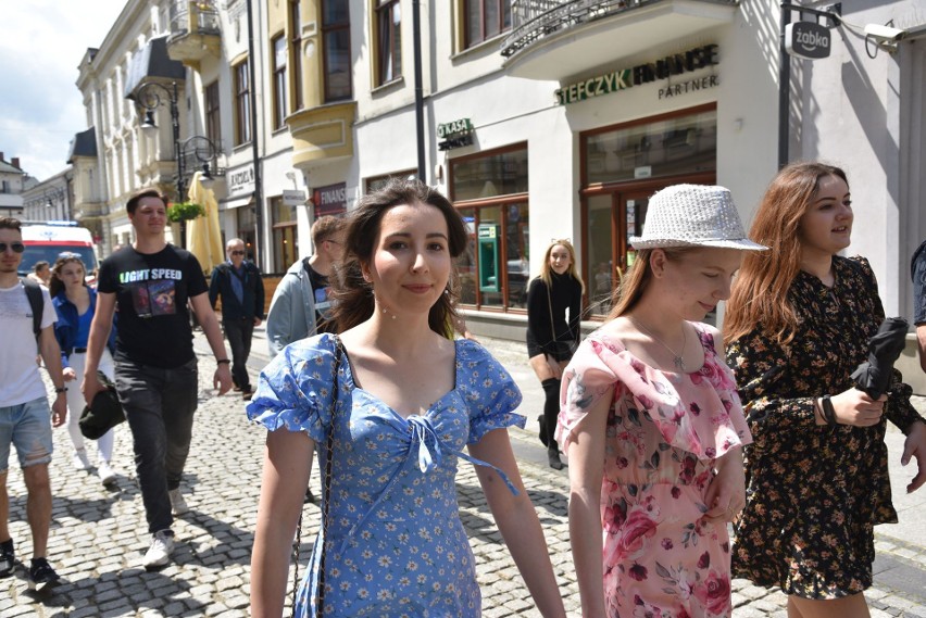
<path fill-rule="evenodd" d="M 908 492 L 926 481 L 926 425 L 910 387 L 897 379 L 872 400 L 850 377 L 884 318 L 868 262 L 837 255 L 852 217 L 841 169 L 781 169 L 750 231 L 772 251 L 746 256 L 727 303 L 727 362 L 754 440 L 733 570 L 780 587 L 790 617 L 868 616 L 874 526 L 897 521 L 886 420 L 908 437 L 902 462 L 918 461 Z"/>

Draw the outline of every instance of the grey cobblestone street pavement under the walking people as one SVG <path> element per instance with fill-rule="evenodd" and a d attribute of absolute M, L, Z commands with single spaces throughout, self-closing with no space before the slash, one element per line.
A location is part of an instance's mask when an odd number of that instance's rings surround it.
<path fill-rule="evenodd" d="M 503 350 L 498 351 L 498 356 L 505 362 Z M 54 506 L 49 558 L 63 581 L 51 593 L 36 596 L 28 591 L 25 569 L 21 567 L 13 578 L 0 580 L 0 616 L 249 616 L 250 547 L 264 432 L 245 420 L 240 399 L 230 394 L 217 398 L 214 391 L 205 388 L 213 369 L 211 356 L 200 356 L 200 407 L 182 484 L 191 510 L 174 527 L 177 535 L 175 563 L 160 572 L 146 572 L 139 566 L 150 537 L 134 479 L 128 427 L 117 428 L 114 467 L 120 478 L 113 490 L 104 489 L 92 471 L 77 471 L 72 467 L 70 440 L 66 431 L 60 428 L 54 434 L 55 453 L 51 465 Z M 525 405 L 530 402 L 526 401 Z M 900 456 L 893 452 L 898 437 L 902 439 L 898 432 L 891 434 L 892 458 Z M 512 430 L 512 438 L 525 484 L 547 532 L 567 611 L 578 616 L 578 590 L 566 522 L 566 474 L 554 472 L 543 465 L 545 452 L 533 432 Z M 26 493 L 15 458 L 11 462 L 14 464 L 9 475 L 11 532 L 17 556 L 27 560 L 32 547 L 25 521 Z M 314 488 L 318 487 L 317 470 L 316 465 L 312 478 Z M 911 476 L 912 472 L 904 478 Z M 896 497 L 901 491 L 896 484 Z M 502 543 L 470 465 L 461 466 L 458 494 L 463 522 L 476 554 L 484 615 L 499 618 L 539 616 Z M 922 505 L 923 497 L 918 500 L 917 505 Z M 913 528 L 905 528 L 908 533 L 904 533 L 903 528 L 908 522 L 922 524 L 923 510 L 919 506 L 898 508 L 901 527 L 880 529 L 900 528 L 900 532 L 878 533 L 879 558 L 876 583 L 867 595 L 869 605 L 876 618 L 926 618 L 924 538 L 910 535 Z M 914 515 L 916 509 L 918 515 Z M 317 526 L 318 508 L 306 505 L 301 547 L 303 566 Z M 768 592 L 742 580 L 735 581 L 734 602 L 735 616 L 785 616 L 781 593 Z"/>

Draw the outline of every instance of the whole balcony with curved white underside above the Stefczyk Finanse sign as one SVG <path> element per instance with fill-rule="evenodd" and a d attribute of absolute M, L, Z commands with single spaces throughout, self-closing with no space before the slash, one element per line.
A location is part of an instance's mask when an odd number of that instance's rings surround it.
<path fill-rule="evenodd" d="M 501 54 L 512 75 L 563 79 L 651 47 L 653 41 L 683 38 L 730 23 L 738 3 L 739 0 L 512 0 L 512 29 Z"/>

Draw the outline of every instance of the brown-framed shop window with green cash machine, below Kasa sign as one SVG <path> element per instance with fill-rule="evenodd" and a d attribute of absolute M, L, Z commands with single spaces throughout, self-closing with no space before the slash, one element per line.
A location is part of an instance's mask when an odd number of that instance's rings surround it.
<path fill-rule="evenodd" d="M 456 260 L 460 301 L 524 310 L 530 279 L 527 149 L 520 146 L 451 162 L 451 196 L 470 234 Z"/>

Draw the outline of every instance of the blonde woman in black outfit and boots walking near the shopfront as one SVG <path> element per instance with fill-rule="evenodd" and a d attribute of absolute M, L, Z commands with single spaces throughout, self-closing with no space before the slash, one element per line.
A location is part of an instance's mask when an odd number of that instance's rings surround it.
<path fill-rule="evenodd" d="M 540 440 L 550 467 L 563 469 L 553 433 L 560 414 L 560 378 L 578 346 L 585 285 L 576 270 L 576 250 L 566 239 L 553 240 L 543 253 L 540 276 L 527 289 L 527 354 L 546 396 Z M 568 315 L 568 317 L 567 317 Z"/>

